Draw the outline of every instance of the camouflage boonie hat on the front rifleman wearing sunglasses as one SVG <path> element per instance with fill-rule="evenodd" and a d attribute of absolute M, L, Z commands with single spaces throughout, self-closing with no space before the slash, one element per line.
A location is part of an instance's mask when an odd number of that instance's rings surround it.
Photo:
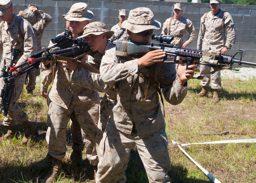
<path fill-rule="evenodd" d="M 154 20 L 154 14 L 149 8 L 139 7 L 130 11 L 128 19 L 122 23 L 121 27 L 133 33 L 139 33 L 150 29 L 160 29 L 161 23 Z"/>

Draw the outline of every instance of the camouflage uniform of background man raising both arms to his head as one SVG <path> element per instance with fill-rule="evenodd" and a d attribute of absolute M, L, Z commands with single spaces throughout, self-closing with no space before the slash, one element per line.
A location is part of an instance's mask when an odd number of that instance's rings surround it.
<path fill-rule="evenodd" d="M 38 14 L 37 14 L 37 16 L 35 16 L 35 19 L 30 20 L 29 18 L 31 16 L 26 16 L 27 14 L 30 13 L 29 11 L 31 11 L 31 13 L 33 14 L 32 9 L 28 8 L 28 9 L 24 10 L 22 17 L 25 19 L 28 18 L 27 20 L 33 26 L 34 33 L 36 35 L 36 41 L 37 41 L 37 51 L 40 51 L 40 50 L 42 50 L 41 39 L 44 34 L 44 30 L 52 22 L 52 17 L 50 15 L 38 10 Z M 29 83 L 28 83 L 28 87 L 26 87 L 26 89 L 34 90 L 36 88 L 36 77 L 40 75 L 40 68 L 34 68 L 34 69 L 30 70 L 27 74 L 29 75 Z"/>

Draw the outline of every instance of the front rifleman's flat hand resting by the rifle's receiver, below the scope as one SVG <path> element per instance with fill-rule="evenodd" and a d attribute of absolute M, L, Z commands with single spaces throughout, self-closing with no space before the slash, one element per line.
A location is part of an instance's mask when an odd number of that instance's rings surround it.
<path fill-rule="evenodd" d="M 138 58 L 138 69 L 146 66 L 150 66 L 156 62 L 163 62 L 166 52 L 162 49 L 156 49 L 146 53 L 141 58 Z"/>

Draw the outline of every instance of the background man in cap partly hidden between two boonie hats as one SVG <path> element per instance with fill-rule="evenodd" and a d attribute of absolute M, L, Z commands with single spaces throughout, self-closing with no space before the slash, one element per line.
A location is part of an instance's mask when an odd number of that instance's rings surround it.
<path fill-rule="evenodd" d="M 125 40 L 127 37 L 129 37 L 126 29 L 121 28 L 123 21 L 127 19 L 127 15 L 128 11 L 126 9 L 119 10 L 119 23 L 111 28 L 111 31 L 114 31 L 114 35 L 109 40 L 111 40 L 112 42 L 115 43 L 117 39 Z"/>

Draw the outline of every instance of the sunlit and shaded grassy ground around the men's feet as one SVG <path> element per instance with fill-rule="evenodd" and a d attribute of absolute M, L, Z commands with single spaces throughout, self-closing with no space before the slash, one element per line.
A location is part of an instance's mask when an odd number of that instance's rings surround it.
<path fill-rule="evenodd" d="M 173 145 L 178 143 L 200 143 L 218 140 L 256 138 L 256 79 L 241 81 L 222 78 L 220 101 L 212 103 L 209 97 L 200 98 L 200 80 L 189 80 L 189 92 L 182 104 L 173 106 L 166 101 L 166 133 L 169 139 L 171 170 L 168 172 L 172 183 L 212 182 L 186 155 Z M 47 154 L 45 141 L 48 106 L 40 97 L 40 87 L 36 86 L 33 97 L 27 97 L 24 89 L 18 104 L 27 112 L 29 120 L 37 128 L 37 134 L 27 145 L 22 144 L 23 126 L 16 125 L 16 137 L 0 142 L 0 182 L 34 183 L 44 182 L 48 170 L 31 169 L 31 162 L 43 159 Z M 210 88 L 209 88 L 210 89 Z M 103 94 L 100 95 L 101 97 Z M 1 119 L 3 120 L 3 118 Z M 227 135 L 200 135 L 229 130 Z M 0 135 L 6 127 L 0 125 Z M 71 152 L 70 129 L 68 128 L 67 148 Z M 221 182 L 256 182 L 256 145 L 255 143 L 204 144 L 183 147 L 185 151 Z M 83 167 L 63 162 L 63 173 L 58 183 L 91 183 L 92 167 L 83 153 Z M 127 183 L 148 182 L 147 175 L 136 148 L 126 170 Z"/>

